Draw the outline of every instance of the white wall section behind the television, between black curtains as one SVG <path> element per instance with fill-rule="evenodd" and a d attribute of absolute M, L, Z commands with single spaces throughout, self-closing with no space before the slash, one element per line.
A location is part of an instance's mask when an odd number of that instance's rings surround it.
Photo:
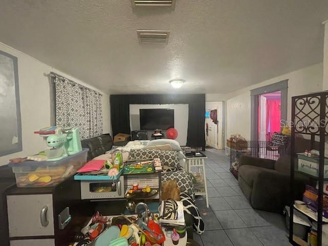
<path fill-rule="evenodd" d="M 174 109 L 174 128 L 178 131 L 178 137 L 175 140 L 179 142 L 180 146 L 186 146 L 189 118 L 188 104 L 130 104 L 131 131 L 140 130 L 139 109 Z"/>

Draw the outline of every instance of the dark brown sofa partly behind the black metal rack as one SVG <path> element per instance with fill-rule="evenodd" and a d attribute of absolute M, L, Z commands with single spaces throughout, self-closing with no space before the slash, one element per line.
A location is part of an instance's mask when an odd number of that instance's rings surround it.
<path fill-rule="evenodd" d="M 315 145 L 315 149 L 317 149 Z M 311 141 L 297 138 L 296 153 L 311 149 Z M 291 147 L 277 161 L 241 156 L 238 170 L 239 187 L 254 209 L 282 213 L 290 201 Z M 301 198 L 305 184 L 313 185 L 302 174 L 295 173 L 295 197 Z"/>

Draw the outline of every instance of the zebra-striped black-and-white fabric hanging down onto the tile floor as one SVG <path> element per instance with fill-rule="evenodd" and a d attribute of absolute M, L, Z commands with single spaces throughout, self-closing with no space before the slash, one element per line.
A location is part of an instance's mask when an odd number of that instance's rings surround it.
<path fill-rule="evenodd" d="M 183 211 L 190 214 L 194 218 L 193 228 L 198 234 L 202 234 L 205 230 L 204 221 L 200 216 L 199 210 L 192 199 L 187 193 L 180 194 L 180 201 L 183 204 Z"/>

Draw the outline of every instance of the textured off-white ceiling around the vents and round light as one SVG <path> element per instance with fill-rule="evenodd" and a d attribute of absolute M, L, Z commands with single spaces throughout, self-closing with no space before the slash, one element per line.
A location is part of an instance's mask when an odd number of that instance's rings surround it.
<path fill-rule="evenodd" d="M 321 62 L 325 19 L 326 0 L 0 0 L 0 42 L 111 94 L 228 93 Z"/>

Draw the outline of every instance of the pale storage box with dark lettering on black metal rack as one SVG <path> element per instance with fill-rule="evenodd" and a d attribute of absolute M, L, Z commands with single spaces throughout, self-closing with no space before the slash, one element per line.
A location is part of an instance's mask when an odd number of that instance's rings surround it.
<path fill-rule="evenodd" d="M 309 157 L 303 154 L 297 154 L 298 157 L 298 171 L 310 174 L 312 176 L 319 176 L 319 157 Z M 328 159 L 324 160 L 323 177 L 328 178 Z"/>

